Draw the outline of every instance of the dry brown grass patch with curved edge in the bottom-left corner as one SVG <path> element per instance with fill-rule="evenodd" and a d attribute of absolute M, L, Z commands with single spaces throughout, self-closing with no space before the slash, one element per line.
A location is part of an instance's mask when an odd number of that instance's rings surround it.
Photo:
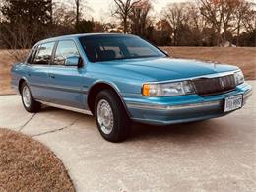
<path fill-rule="evenodd" d="M 62 162 L 28 136 L 0 129 L 0 191 L 75 191 Z"/>

